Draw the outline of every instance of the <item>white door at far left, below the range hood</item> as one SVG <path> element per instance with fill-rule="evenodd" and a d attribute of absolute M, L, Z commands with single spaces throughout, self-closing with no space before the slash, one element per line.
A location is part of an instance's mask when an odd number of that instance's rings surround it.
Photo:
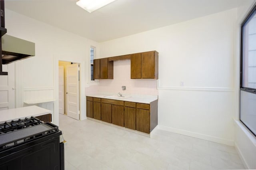
<path fill-rule="evenodd" d="M 8 75 L 0 75 L 0 110 L 15 108 L 15 70 L 14 64 L 2 65 Z"/>

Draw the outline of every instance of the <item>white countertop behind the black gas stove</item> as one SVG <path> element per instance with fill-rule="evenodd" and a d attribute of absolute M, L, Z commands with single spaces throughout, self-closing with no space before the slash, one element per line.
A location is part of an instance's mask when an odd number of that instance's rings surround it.
<path fill-rule="evenodd" d="M 42 116 L 52 113 L 52 111 L 38 106 L 20 107 L 16 109 L 7 109 L 0 111 L 0 122 L 24 119 L 30 116 Z"/>

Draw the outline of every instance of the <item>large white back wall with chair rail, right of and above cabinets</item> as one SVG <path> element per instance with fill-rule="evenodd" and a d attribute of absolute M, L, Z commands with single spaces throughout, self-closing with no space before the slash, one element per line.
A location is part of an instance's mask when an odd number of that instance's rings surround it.
<path fill-rule="evenodd" d="M 158 51 L 159 127 L 233 145 L 236 17 L 232 9 L 103 42 L 101 57 Z"/>

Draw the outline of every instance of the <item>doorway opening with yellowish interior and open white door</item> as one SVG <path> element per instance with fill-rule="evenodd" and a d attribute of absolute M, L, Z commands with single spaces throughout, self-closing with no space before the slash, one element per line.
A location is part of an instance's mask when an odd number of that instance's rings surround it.
<path fill-rule="evenodd" d="M 58 61 L 59 114 L 80 120 L 80 63 Z"/>

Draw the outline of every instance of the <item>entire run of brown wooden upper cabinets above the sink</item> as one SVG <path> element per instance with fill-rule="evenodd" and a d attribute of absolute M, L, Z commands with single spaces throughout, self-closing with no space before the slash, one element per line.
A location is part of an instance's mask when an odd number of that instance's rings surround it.
<path fill-rule="evenodd" d="M 113 79 L 114 61 L 124 59 L 131 59 L 131 79 L 158 79 L 157 51 L 94 59 L 94 79 Z"/>

